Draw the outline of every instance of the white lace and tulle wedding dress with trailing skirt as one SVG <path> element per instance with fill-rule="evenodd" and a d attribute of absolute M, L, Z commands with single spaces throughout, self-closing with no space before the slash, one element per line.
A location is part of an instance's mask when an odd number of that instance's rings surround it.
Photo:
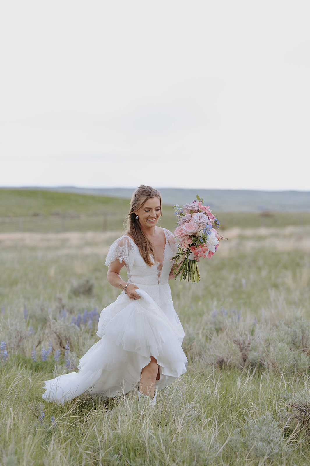
<path fill-rule="evenodd" d="M 139 287 L 134 301 L 124 292 L 101 311 L 97 335 L 101 337 L 81 357 L 79 372 L 63 374 L 45 382 L 42 397 L 65 403 L 87 392 L 103 398 L 128 393 L 137 387 L 141 371 L 154 356 L 159 366 L 155 388 L 167 387 L 186 372 L 182 350 L 184 331 L 171 299 L 168 276 L 177 252 L 174 235 L 163 229 L 166 245 L 163 261 L 148 266 L 129 236 L 109 249 L 105 265 L 125 261 L 128 281 Z M 153 258 L 154 259 L 154 258 Z M 155 262 L 155 261 L 154 261 Z"/>

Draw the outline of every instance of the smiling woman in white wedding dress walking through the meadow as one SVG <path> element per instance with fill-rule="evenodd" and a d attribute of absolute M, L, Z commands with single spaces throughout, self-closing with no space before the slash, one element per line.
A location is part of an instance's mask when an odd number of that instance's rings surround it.
<path fill-rule="evenodd" d="M 133 194 L 128 233 L 110 247 L 108 282 L 123 291 L 101 311 L 101 337 L 81 357 L 78 370 L 45 382 L 42 397 L 65 403 L 87 392 L 115 397 L 136 388 L 152 399 L 186 372 L 184 331 L 175 312 L 168 280 L 173 277 L 174 235 L 156 226 L 162 215 L 160 193 L 141 185 Z M 126 267 L 128 281 L 120 272 Z"/>

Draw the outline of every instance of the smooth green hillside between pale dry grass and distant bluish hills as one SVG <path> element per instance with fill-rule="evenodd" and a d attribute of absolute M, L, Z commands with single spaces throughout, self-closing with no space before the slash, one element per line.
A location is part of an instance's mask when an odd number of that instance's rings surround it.
<path fill-rule="evenodd" d="M 164 199 L 163 199 L 164 201 Z M 128 215 L 129 200 L 50 192 L 0 189 L 0 232 L 107 232 L 121 231 Z M 175 229 L 171 206 L 163 205 L 162 224 Z M 237 228 L 310 225 L 310 212 L 213 212 L 222 231 Z"/>

